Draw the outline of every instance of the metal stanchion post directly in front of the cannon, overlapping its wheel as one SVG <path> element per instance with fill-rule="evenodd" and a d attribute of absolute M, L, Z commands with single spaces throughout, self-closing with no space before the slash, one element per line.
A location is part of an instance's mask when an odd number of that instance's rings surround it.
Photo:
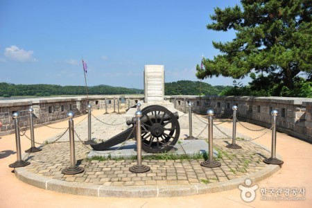
<path fill-rule="evenodd" d="M 135 113 L 135 116 L 137 117 L 137 164 L 130 167 L 129 171 L 132 173 L 146 173 L 146 172 L 150 171 L 150 167 L 142 164 L 142 154 L 141 154 L 141 150 L 142 150 L 142 139 L 141 139 L 141 116 L 142 116 L 142 112 L 137 111 Z"/>

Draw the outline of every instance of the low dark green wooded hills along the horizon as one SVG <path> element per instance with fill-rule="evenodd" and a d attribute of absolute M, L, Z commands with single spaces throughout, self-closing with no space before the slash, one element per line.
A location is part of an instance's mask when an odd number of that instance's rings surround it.
<path fill-rule="evenodd" d="M 202 83 L 202 95 L 218 95 L 227 87 L 211 86 Z M 15 85 L 0 83 L 0 96 L 58 96 L 58 95 L 85 95 L 85 86 L 60 86 L 60 85 Z M 109 85 L 97 85 L 88 87 L 88 94 L 144 94 L 143 89 L 126 87 L 112 87 Z M 200 82 L 180 80 L 173 83 L 165 83 L 165 95 L 199 95 Z"/>

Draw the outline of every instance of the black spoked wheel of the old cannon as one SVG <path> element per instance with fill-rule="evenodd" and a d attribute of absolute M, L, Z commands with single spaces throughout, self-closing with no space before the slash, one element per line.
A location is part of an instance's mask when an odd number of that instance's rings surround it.
<path fill-rule="evenodd" d="M 174 114 L 160 105 L 150 105 L 141 112 L 148 119 L 142 123 L 142 148 L 146 153 L 165 153 L 171 150 L 180 136 L 180 124 Z M 166 115 L 169 119 L 164 119 Z"/>

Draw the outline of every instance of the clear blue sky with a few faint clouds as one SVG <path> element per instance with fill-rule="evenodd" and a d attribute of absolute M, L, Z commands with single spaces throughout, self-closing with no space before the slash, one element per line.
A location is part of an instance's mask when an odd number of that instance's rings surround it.
<path fill-rule="evenodd" d="M 234 31 L 207 30 L 214 8 L 237 0 L 1 0 L 0 83 L 144 88 L 144 65 L 164 65 L 165 82 L 196 81 L 201 57 Z M 232 85 L 232 78 L 203 80 Z M 247 85 L 250 78 L 238 80 Z"/>

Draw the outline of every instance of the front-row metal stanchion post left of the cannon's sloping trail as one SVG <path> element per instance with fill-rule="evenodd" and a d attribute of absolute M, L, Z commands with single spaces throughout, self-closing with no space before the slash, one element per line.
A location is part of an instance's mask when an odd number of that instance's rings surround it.
<path fill-rule="evenodd" d="M 65 175 L 74 175 L 78 173 L 83 173 L 83 171 L 85 171 L 84 168 L 76 166 L 73 116 L 74 116 L 73 112 L 67 113 L 67 118 L 69 119 L 68 121 L 69 123 L 69 150 L 70 150 L 71 166 L 62 169 L 62 173 Z"/>

